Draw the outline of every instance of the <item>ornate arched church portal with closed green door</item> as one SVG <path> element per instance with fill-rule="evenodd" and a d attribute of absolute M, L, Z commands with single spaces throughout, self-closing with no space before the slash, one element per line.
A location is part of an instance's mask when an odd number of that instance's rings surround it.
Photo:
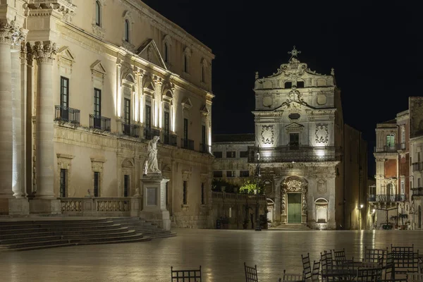
<path fill-rule="evenodd" d="M 307 222 L 307 180 L 289 176 L 281 183 L 281 219 L 288 224 Z"/>

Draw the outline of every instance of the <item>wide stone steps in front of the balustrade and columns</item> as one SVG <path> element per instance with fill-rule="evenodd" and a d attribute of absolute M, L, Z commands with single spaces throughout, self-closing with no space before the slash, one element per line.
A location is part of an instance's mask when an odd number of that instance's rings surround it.
<path fill-rule="evenodd" d="M 175 236 L 139 218 L 0 221 L 0 250 L 133 243 Z"/>

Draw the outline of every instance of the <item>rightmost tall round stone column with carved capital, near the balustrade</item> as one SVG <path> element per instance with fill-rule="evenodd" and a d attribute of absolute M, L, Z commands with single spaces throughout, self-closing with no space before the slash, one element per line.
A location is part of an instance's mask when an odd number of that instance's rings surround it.
<path fill-rule="evenodd" d="M 35 173 L 37 193 L 30 202 L 31 213 L 60 214 L 60 200 L 54 197 L 54 104 L 52 64 L 56 55 L 56 44 L 35 42 L 32 56 L 37 60 L 37 102 L 35 120 Z"/>

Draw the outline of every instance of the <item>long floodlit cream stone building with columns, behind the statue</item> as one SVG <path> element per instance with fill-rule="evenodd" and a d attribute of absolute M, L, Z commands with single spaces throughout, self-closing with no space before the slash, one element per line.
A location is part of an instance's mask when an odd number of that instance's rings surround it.
<path fill-rule="evenodd" d="M 173 225 L 206 227 L 213 59 L 142 1 L 1 0 L 0 214 L 139 195 L 158 135 Z"/>

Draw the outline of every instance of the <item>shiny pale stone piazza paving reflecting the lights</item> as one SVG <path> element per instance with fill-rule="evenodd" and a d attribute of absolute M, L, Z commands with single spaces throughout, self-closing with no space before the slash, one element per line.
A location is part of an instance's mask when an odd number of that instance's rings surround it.
<path fill-rule="evenodd" d="M 202 265 L 203 281 L 245 281 L 243 262 L 257 264 L 259 281 L 276 281 L 283 269 L 300 272 L 301 254 L 345 247 L 361 259 L 364 246 L 414 243 L 423 252 L 421 231 L 230 231 L 172 229 L 178 236 L 145 243 L 59 247 L 0 252 L 0 281 L 171 281 L 176 269 Z"/>

